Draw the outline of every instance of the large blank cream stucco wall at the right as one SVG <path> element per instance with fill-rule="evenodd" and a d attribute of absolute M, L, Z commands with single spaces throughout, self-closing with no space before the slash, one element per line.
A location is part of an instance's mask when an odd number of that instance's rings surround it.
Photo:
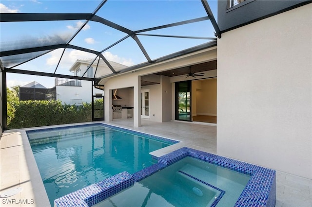
<path fill-rule="evenodd" d="M 218 39 L 217 154 L 312 179 L 312 4 Z"/>

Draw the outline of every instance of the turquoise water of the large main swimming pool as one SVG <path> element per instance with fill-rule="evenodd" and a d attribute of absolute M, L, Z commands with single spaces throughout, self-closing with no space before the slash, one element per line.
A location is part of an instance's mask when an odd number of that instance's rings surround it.
<path fill-rule="evenodd" d="M 135 173 L 156 161 L 149 154 L 169 146 L 103 125 L 27 131 L 51 206 L 54 200 L 117 173 Z"/>

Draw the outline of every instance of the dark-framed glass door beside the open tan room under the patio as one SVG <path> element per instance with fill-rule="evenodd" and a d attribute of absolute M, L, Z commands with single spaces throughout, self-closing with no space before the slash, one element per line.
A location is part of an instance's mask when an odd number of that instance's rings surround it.
<path fill-rule="evenodd" d="M 176 120 L 192 121 L 191 81 L 176 83 Z"/>

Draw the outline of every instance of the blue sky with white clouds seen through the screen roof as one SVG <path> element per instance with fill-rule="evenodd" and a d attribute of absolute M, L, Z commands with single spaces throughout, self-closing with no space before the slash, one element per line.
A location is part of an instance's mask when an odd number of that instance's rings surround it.
<path fill-rule="evenodd" d="M 93 13 L 100 2 L 99 0 L 1 0 L 0 12 Z M 209 0 L 208 2 L 216 18 L 217 1 Z M 132 31 L 207 16 L 200 0 L 108 0 L 97 15 Z M 66 43 L 84 22 L 85 20 L 1 22 L 1 51 Z M 214 29 L 210 21 L 206 20 L 149 31 L 145 34 L 214 37 Z M 123 32 L 98 22 L 89 21 L 70 44 L 102 51 L 125 36 L 126 34 Z M 208 41 L 143 35 L 138 37 L 152 60 Z M 57 49 L 13 68 L 42 72 L 54 72 L 57 69 L 56 73 L 58 74 L 73 75 L 69 69 L 77 59 L 94 59 L 96 57 L 87 52 L 66 49 L 59 63 L 62 52 L 63 49 Z M 103 55 L 110 61 L 126 66 L 147 61 L 131 37 L 103 52 Z M 17 63 L 12 63 L 10 67 L 17 65 Z M 32 81 L 37 81 L 50 88 L 54 86 L 54 79 L 7 73 L 7 87 L 23 86 Z"/>

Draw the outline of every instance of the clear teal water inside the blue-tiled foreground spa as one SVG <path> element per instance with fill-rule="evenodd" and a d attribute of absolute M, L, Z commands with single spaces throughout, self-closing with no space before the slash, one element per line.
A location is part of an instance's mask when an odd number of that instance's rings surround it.
<path fill-rule="evenodd" d="M 186 157 L 96 207 L 234 206 L 251 176 Z"/>

